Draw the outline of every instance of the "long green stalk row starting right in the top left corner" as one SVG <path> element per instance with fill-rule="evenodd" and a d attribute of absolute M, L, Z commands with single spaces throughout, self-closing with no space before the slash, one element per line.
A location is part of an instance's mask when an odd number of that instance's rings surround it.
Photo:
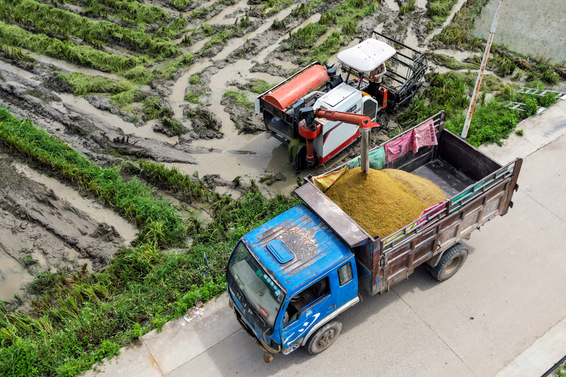
<path fill-rule="evenodd" d="M 68 40 L 69 35 L 74 35 L 94 47 L 102 47 L 103 43 L 125 45 L 157 59 L 179 54 L 178 47 L 168 38 L 152 37 L 110 21 L 93 21 L 33 0 L 0 0 L 0 7 L 5 9 L 0 13 L 4 21 L 33 27 L 37 33 L 59 40 Z"/>

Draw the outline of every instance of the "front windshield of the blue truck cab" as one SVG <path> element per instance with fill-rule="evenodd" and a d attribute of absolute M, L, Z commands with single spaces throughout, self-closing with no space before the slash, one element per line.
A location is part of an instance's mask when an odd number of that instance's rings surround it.
<path fill-rule="evenodd" d="M 285 295 L 243 243 L 239 242 L 236 246 L 228 269 L 244 296 L 265 322 L 273 327 Z"/>

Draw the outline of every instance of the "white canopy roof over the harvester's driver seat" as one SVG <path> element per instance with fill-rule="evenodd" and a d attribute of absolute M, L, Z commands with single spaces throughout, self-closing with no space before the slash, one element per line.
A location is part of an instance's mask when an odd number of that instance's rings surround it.
<path fill-rule="evenodd" d="M 338 53 L 338 61 L 359 72 L 371 72 L 395 54 L 395 49 L 381 40 L 369 38 Z"/>

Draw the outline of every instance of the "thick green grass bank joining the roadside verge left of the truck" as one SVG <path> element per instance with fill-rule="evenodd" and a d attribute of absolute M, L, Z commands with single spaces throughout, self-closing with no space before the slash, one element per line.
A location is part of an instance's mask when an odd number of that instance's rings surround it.
<path fill-rule="evenodd" d="M 204 227 L 196 219 L 181 219 L 146 183 L 123 180 L 117 168 L 97 166 L 3 108 L 0 141 L 91 192 L 140 228 L 134 247 L 119 250 L 102 272 L 88 273 L 85 266 L 77 272 L 38 274 L 28 286 L 28 313 L 0 301 L 1 376 L 76 376 L 144 333 L 160 330 L 195 301 L 226 289 L 223 274 L 203 277 L 204 251 L 212 267 L 223 269 L 238 238 L 299 203 L 284 195 L 267 199 L 254 182 L 241 199 L 233 200 L 174 168 L 146 161 L 125 166 L 129 175 L 209 206 L 214 221 Z M 195 243 L 185 253 L 161 250 L 182 246 L 187 236 Z"/>

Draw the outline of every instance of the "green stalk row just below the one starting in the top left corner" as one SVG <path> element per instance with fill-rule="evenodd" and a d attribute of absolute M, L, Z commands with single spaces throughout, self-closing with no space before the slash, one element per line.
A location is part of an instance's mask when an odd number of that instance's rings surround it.
<path fill-rule="evenodd" d="M 2 21 L 0 21 L 0 43 L 11 47 L 23 47 L 37 54 L 45 54 L 115 74 L 125 75 L 128 71 L 137 69 L 141 75 L 132 77 L 136 83 L 149 83 L 152 79 L 151 73 L 144 67 L 143 59 L 110 54 L 93 47 L 75 45 L 69 41 L 63 42 L 47 35 L 33 34 L 17 25 L 6 25 Z"/>

